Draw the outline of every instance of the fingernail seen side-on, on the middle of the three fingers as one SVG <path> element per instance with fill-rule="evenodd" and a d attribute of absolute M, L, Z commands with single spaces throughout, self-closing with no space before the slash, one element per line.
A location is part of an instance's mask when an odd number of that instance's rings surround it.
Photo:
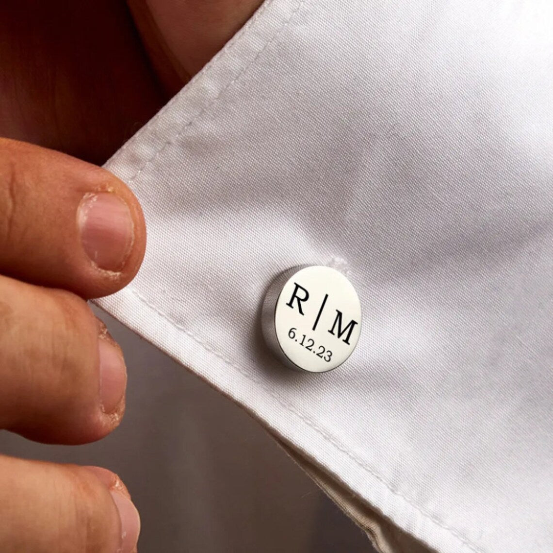
<path fill-rule="evenodd" d="M 98 338 L 100 350 L 100 401 L 104 413 L 113 413 L 123 399 L 127 369 L 121 351 L 107 340 Z"/>

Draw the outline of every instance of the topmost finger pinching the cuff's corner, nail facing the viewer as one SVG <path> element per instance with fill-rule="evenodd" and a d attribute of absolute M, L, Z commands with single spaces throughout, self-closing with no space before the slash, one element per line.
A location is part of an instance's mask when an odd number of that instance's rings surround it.
<path fill-rule="evenodd" d="M 117 176 L 14 140 L 0 140 L 0 176 L 0 273 L 85 299 L 113 294 L 137 274 L 144 215 Z"/>

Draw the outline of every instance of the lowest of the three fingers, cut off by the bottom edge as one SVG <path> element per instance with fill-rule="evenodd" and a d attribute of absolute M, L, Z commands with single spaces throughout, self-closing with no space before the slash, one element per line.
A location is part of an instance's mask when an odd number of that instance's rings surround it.
<path fill-rule="evenodd" d="M 100 467 L 0 456 L 0 487 L 9 498 L 0 502 L 0 549 L 130 553 L 138 513 L 111 478 Z"/>

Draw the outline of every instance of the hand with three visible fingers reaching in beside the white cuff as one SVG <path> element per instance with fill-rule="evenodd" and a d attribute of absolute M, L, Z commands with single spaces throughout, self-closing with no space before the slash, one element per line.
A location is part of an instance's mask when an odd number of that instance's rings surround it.
<path fill-rule="evenodd" d="M 145 225 L 107 171 L 0 139 L 0 428 L 82 444 L 124 411 L 121 349 L 85 299 L 137 272 Z M 111 472 L 0 456 L 0 550 L 130 553 L 139 519 Z"/>

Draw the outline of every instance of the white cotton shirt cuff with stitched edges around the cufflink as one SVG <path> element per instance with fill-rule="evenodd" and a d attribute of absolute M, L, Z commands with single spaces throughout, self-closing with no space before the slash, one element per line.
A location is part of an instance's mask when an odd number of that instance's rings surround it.
<path fill-rule="evenodd" d="M 552 29 L 550 0 L 268 0 L 107 163 L 149 234 L 101 305 L 441 553 L 553 550 Z M 362 335 L 294 373 L 264 292 L 327 263 Z"/>

